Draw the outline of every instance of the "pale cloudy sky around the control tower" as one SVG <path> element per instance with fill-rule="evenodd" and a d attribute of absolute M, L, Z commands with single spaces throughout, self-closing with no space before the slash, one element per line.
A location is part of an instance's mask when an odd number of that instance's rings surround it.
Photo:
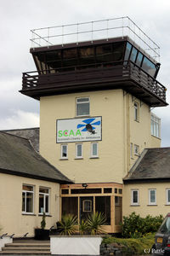
<path fill-rule="evenodd" d="M 39 125 L 39 102 L 21 95 L 22 72 L 34 71 L 32 28 L 128 16 L 161 46 L 157 77 L 170 103 L 170 2 L 167 0 L 0 0 L 0 130 Z M 161 117 L 162 146 L 170 146 L 170 107 Z"/>

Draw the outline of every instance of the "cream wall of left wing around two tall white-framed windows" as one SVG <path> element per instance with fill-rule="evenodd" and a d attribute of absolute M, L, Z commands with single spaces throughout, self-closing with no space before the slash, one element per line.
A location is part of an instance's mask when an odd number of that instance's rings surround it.
<path fill-rule="evenodd" d="M 22 214 L 22 184 L 34 186 L 34 214 Z M 0 234 L 15 234 L 15 237 L 34 236 L 34 228 L 41 227 L 42 216 L 38 216 L 39 186 L 50 189 L 50 216 L 46 218 L 46 228 L 49 229 L 59 220 L 59 184 L 47 181 L 19 177 L 0 173 Z"/>

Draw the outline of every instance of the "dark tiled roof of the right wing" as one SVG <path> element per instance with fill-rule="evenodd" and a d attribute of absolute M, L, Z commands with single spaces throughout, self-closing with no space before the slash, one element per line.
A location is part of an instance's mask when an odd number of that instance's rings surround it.
<path fill-rule="evenodd" d="M 145 148 L 124 183 L 170 179 L 170 148 Z"/>

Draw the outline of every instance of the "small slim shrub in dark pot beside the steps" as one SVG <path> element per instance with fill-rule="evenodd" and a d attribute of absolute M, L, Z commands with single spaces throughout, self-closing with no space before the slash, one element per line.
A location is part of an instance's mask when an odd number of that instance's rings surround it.
<path fill-rule="evenodd" d="M 41 229 L 35 229 L 36 240 L 49 240 L 49 230 L 45 230 L 46 220 L 45 212 L 42 214 Z"/>

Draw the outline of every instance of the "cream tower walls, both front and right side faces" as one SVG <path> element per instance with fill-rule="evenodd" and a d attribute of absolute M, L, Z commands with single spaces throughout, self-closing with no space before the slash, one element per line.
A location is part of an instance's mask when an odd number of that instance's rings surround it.
<path fill-rule="evenodd" d="M 102 116 L 99 159 L 90 159 L 91 143 L 83 144 L 83 160 L 75 159 L 76 143 L 68 143 L 68 160 L 60 160 L 56 143 L 56 119 L 76 117 L 76 98 L 90 98 L 90 117 Z M 139 122 L 134 121 L 134 102 L 139 103 Z M 150 136 L 150 108 L 123 90 L 102 90 L 43 96 L 40 100 L 40 154 L 75 183 L 122 183 L 138 156 L 130 156 L 130 143 L 156 147 Z"/>

